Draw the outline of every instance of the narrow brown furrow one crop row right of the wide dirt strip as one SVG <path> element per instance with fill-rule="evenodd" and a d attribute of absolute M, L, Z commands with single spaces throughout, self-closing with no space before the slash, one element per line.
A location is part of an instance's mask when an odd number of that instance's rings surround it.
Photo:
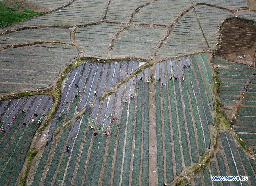
<path fill-rule="evenodd" d="M 159 63 L 159 77 L 162 79 L 161 63 Z M 164 183 L 167 182 L 166 178 L 166 149 L 165 149 L 165 128 L 167 123 L 164 123 L 164 106 L 163 106 L 163 87 L 160 88 L 160 104 L 161 104 L 161 121 L 162 121 L 162 141 L 163 141 L 163 157 L 164 157 Z"/>

